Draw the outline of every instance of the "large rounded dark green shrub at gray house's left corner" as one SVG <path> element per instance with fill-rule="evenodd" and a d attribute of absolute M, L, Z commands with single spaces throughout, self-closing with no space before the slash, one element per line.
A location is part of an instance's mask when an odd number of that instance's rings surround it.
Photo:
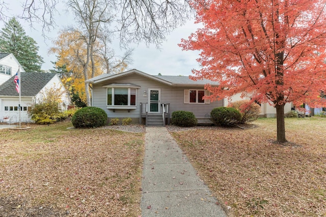
<path fill-rule="evenodd" d="M 104 126 L 107 121 L 107 114 L 101 108 L 84 107 L 77 110 L 71 118 L 75 128 L 97 128 Z"/>

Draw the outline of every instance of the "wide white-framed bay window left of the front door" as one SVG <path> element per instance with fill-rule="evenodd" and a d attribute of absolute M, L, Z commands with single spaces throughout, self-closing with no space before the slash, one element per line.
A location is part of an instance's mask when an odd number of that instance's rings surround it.
<path fill-rule="evenodd" d="M 135 109 L 136 92 L 132 87 L 108 87 L 107 108 Z"/>

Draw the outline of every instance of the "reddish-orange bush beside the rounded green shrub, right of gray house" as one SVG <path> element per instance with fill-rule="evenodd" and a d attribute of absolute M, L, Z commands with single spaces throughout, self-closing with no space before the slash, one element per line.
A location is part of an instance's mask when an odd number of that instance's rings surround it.
<path fill-rule="evenodd" d="M 231 103 L 229 107 L 235 108 L 241 114 L 240 123 L 247 123 L 257 120 L 260 113 L 260 105 L 249 103 L 249 100 L 239 100 Z"/>

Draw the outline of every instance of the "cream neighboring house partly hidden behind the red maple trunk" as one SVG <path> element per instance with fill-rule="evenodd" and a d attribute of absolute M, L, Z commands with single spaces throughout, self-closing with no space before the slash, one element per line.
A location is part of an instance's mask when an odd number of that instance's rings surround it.
<path fill-rule="evenodd" d="M 241 94 L 236 94 L 232 96 L 231 102 L 239 101 L 239 100 L 251 100 L 250 97 L 241 98 Z M 224 105 L 228 106 L 229 102 L 227 99 L 224 99 Z M 260 105 L 260 114 L 259 117 L 276 117 L 276 108 L 270 105 L 269 103 L 262 103 Z M 284 114 L 291 111 L 292 103 L 287 103 L 284 106 Z"/>

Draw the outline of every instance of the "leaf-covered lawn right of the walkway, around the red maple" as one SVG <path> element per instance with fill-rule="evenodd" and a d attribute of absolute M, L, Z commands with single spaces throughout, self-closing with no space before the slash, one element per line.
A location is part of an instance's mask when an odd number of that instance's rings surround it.
<path fill-rule="evenodd" d="M 201 178 L 234 216 L 326 216 L 326 118 L 276 119 L 256 128 L 173 133 Z"/>

